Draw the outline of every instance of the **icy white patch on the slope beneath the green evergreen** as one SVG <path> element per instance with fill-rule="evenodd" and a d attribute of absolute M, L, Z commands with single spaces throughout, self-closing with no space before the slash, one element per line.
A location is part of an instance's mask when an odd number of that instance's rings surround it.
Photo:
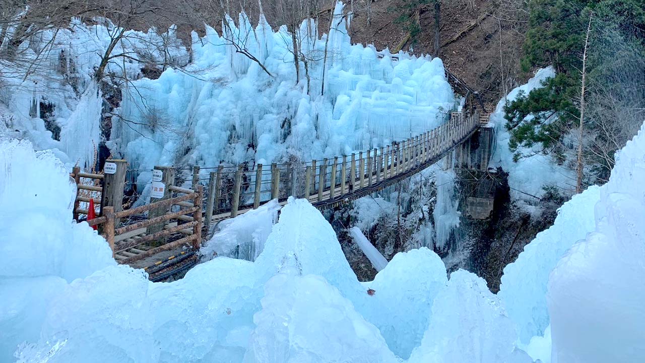
<path fill-rule="evenodd" d="M 490 115 L 497 135 L 497 143 L 495 152 L 491 158 L 490 167 L 499 166 L 508 172 L 508 185 L 512 188 L 511 196 L 514 200 L 535 200 L 532 196 L 524 193 L 540 197 L 544 194 L 542 187 L 545 185 L 555 186 L 559 191 L 571 191 L 572 180 L 575 180 L 573 171 L 562 165 L 557 165 L 550 156 L 537 153 L 539 151 L 539 145 L 535 146 L 535 149 L 519 147 L 518 151 L 521 154 L 531 156 L 522 158 L 518 162 L 513 161 L 513 152 L 508 149 L 511 135 L 506 130 L 506 127 L 504 127 L 506 124 L 506 119 L 504 119 L 504 101 L 511 102 L 522 92 L 526 95 L 531 90 L 542 87 L 542 81 L 553 76 L 555 76 L 555 70 L 551 67 L 537 71 L 535 76 L 529 79 L 525 85 L 514 88 L 506 96 L 506 99 L 501 99 L 497 103 L 495 112 Z M 532 116 L 527 117 L 530 118 Z"/>

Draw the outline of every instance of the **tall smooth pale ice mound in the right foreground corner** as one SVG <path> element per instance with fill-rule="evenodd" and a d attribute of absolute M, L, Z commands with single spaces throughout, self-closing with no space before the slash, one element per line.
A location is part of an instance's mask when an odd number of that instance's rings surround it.
<path fill-rule="evenodd" d="M 643 180 L 645 126 L 617 154 L 609 182 L 600 187 L 595 229 L 551 272 L 553 363 L 645 360 Z"/>

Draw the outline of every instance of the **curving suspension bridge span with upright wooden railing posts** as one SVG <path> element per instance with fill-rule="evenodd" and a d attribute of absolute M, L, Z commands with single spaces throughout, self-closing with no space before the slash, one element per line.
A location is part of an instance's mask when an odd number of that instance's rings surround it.
<path fill-rule="evenodd" d="M 284 202 L 291 195 L 307 198 L 319 208 L 359 198 L 432 165 L 486 122 L 488 114 L 452 112 L 436 129 L 350 155 L 252 168 L 245 164 L 208 168 L 215 171 L 208 178 L 204 223 L 235 217 L 275 198 Z M 194 182 L 200 180 L 199 169 L 193 176 Z"/>

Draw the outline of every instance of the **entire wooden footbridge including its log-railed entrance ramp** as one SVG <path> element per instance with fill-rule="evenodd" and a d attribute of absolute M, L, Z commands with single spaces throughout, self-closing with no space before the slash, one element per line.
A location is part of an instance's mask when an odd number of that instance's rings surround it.
<path fill-rule="evenodd" d="M 194 263 L 196 256 L 184 258 L 186 247 L 199 249 L 203 229 L 208 231 L 212 223 L 252 211 L 270 200 L 277 198 L 284 205 L 287 197 L 294 195 L 326 209 L 380 191 L 437 163 L 484 123 L 488 123 L 488 115 L 453 112 L 437 129 L 358 155 L 333 158 L 332 163 L 328 159 L 312 160 L 272 164 L 270 169 L 255 165 L 252 170 L 246 165 L 219 166 L 210 172 L 205 192 L 199 182 L 199 168 L 194 168 L 193 188 L 184 189 L 174 185 L 174 168 L 155 167 L 159 180 L 153 185 L 161 188 L 163 196 L 125 211 L 120 203 L 110 206 L 110 200 L 123 200 L 125 161 L 114 161 L 116 171 L 104 174 L 104 178 L 77 170 L 72 176 L 79 184 L 79 176 L 103 180 L 103 187 L 92 189 L 101 193 L 100 200 L 95 200 L 101 204 L 101 216 L 89 223 L 101 226 L 115 259 L 133 267 L 155 269 L 176 256 L 181 256 L 177 260 L 184 264 Z M 75 213 L 86 214 L 79 203 L 88 200 L 88 196 L 77 196 Z"/>

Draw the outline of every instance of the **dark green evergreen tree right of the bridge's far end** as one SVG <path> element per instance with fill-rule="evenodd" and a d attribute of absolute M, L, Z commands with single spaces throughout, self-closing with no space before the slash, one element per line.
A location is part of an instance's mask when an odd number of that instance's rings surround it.
<path fill-rule="evenodd" d="M 528 72 L 551 65 L 557 75 L 546 80 L 543 88 L 506 105 L 511 150 L 540 145 L 543 152 L 553 152 L 564 161 L 564 140 L 579 123 L 581 54 L 590 12 L 595 16 L 588 83 L 595 97 L 611 94 L 613 98 L 637 99 L 637 103 L 645 99 L 645 0 L 531 0 L 522 69 Z M 626 71 L 632 73 L 631 77 L 623 77 Z M 631 83 L 629 87 L 626 82 Z M 524 121 L 530 114 L 534 117 Z M 602 136 L 602 132 L 593 132 L 598 125 L 593 112 L 590 116 L 591 134 L 594 138 Z M 515 160 L 521 157 L 518 152 Z M 611 165 L 602 165 L 601 169 L 607 167 Z"/>

